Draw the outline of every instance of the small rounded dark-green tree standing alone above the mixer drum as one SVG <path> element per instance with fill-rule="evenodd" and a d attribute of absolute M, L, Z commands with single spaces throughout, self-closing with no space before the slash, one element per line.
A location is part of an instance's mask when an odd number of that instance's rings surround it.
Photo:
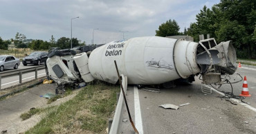
<path fill-rule="evenodd" d="M 158 30 L 156 30 L 156 36 L 174 36 L 179 35 L 180 27 L 175 20 L 166 21 L 166 23 L 162 23 L 159 25 Z"/>

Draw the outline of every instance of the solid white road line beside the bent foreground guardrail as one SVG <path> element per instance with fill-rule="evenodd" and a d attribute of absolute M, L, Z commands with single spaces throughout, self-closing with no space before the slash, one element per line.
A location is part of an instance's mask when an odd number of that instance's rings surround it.
<path fill-rule="evenodd" d="M 138 88 L 134 86 L 134 111 L 135 111 L 135 126 L 140 134 L 143 134 L 143 121 L 141 120 L 140 98 L 138 96 Z"/>

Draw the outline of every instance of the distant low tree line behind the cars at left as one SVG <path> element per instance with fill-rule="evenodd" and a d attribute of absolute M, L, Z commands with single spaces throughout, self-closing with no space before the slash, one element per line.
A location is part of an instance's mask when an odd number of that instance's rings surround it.
<path fill-rule="evenodd" d="M 24 34 L 17 32 L 15 35 L 15 39 L 11 38 L 10 40 L 3 41 L 0 37 L 0 49 L 8 49 L 8 45 L 14 42 L 16 48 L 30 48 L 30 49 L 50 49 L 51 47 L 60 47 L 61 49 L 69 49 L 71 48 L 71 39 L 66 37 L 61 37 L 55 41 L 53 35 L 49 41 L 43 40 L 33 40 L 27 39 Z M 85 45 L 85 42 L 81 43 L 81 41 L 77 40 L 77 38 L 72 38 L 72 47 L 77 47 Z"/>

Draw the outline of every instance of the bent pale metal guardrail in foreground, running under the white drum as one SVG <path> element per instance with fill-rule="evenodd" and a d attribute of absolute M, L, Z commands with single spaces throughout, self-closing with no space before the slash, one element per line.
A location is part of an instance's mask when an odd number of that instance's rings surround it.
<path fill-rule="evenodd" d="M 127 91 L 127 76 L 121 75 L 122 77 L 122 86 L 124 87 L 124 91 Z M 113 122 L 111 124 L 111 129 L 109 133 L 111 134 L 118 134 L 121 133 L 122 128 L 122 113 L 124 111 L 125 101 L 124 96 L 122 96 L 122 89 L 120 91 L 120 96 L 118 99 L 118 104 L 116 105 L 116 112 L 113 116 Z"/>

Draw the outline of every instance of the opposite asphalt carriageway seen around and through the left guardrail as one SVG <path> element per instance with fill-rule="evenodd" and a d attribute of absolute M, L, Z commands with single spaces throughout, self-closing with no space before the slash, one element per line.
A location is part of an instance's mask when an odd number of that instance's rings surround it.
<path fill-rule="evenodd" d="M 22 63 L 19 65 L 18 69 L 28 69 L 31 67 L 37 67 L 37 65 L 27 65 L 24 66 Z M 8 72 L 8 71 L 17 71 L 16 69 L 6 69 L 3 72 Z M 1 74 L 1 72 L 0 72 Z M 41 69 L 37 72 L 37 77 L 44 77 L 46 76 L 46 71 L 45 69 Z M 22 75 L 22 82 L 28 82 L 30 80 L 34 80 L 35 79 L 35 72 L 30 72 L 30 73 L 26 73 Z M 19 76 L 10 76 L 7 78 L 2 78 L 1 79 L 1 89 L 5 89 L 7 87 L 11 87 L 13 85 L 17 85 L 19 84 Z"/>

